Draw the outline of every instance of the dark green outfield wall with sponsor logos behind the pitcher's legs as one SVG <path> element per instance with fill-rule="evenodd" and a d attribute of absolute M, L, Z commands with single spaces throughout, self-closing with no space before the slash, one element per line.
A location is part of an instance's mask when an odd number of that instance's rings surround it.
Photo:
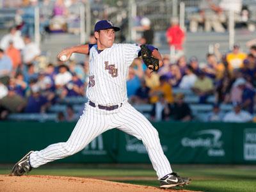
<path fill-rule="evenodd" d="M 15 163 L 29 150 L 67 141 L 76 124 L 0 122 L 0 163 Z M 256 164 L 256 124 L 154 123 L 171 163 Z M 74 156 L 56 163 L 149 163 L 143 143 L 113 129 Z"/>

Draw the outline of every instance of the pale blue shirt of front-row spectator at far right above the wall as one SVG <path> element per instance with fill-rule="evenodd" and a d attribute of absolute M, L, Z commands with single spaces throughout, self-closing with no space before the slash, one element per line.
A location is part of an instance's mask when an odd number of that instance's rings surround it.
<path fill-rule="evenodd" d="M 252 121 L 252 119 L 253 116 L 247 111 L 241 110 L 239 113 L 235 113 L 235 111 L 230 111 L 224 116 L 223 122 L 243 123 L 250 122 Z"/>

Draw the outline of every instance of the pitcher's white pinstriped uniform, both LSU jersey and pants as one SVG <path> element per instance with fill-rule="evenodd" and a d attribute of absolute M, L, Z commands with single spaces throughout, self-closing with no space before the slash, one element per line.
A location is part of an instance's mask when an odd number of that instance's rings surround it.
<path fill-rule="evenodd" d="M 29 163 L 33 168 L 76 154 L 102 132 L 116 128 L 143 141 L 158 179 L 172 173 L 157 130 L 145 116 L 126 102 L 128 68 L 139 51 L 140 47 L 135 44 L 113 44 L 112 47 L 98 53 L 97 45 L 93 45 L 90 49 L 88 99 L 104 106 L 113 106 L 121 102 L 122 105 L 109 111 L 87 102 L 83 115 L 80 116 L 68 141 L 55 143 L 31 153 Z"/>

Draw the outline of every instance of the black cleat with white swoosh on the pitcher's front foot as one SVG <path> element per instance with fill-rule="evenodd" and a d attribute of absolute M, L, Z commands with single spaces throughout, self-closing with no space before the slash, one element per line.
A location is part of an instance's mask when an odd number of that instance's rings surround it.
<path fill-rule="evenodd" d="M 190 181 L 191 179 L 188 177 L 180 177 L 177 173 L 173 172 L 160 179 L 160 188 L 183 187 L 189 184 Z"/>

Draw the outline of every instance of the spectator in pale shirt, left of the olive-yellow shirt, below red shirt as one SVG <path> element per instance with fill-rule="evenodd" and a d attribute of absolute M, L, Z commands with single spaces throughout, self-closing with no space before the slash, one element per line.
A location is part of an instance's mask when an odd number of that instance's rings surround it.
<path fill-rule="evenodd" d="M 179 88 L 182 89 L 191 89 L 196 81 L 196 75 L 193 72 L 193 68 L 188 65 L 186 68 L 186 75 L 182 77 Z"/>

